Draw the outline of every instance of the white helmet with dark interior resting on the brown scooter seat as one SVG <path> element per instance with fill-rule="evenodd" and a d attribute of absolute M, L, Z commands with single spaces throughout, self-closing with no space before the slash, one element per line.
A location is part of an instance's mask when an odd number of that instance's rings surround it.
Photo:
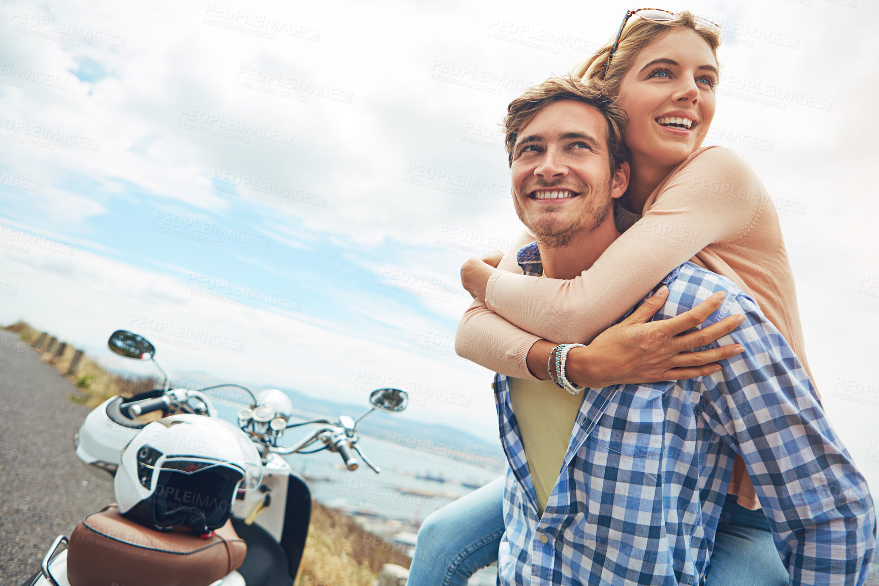
<path fill-rule="evenodd" d="M 257 488 L 262 466 L 231 423 L 182 414 L 149 423 L 125 446 L 114 489 L 120 513 L 159 531 L 189 525 L 209 535 L 226 524 L 238 488 Z"/>

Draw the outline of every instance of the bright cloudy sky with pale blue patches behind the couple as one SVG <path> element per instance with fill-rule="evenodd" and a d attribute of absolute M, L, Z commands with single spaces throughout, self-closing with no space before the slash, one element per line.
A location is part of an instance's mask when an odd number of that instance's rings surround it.
<path fill-rule="evenodd" d="M 669 4 L 723 27 L 708 143 L 778 210 L 810 365 L 879 486 L 877 7 Z M 497 438 L 454 355 L 458 271 L 519 234 L 498 122 L 628 4 L 7 2 L 0 322 L 111 368 L 115 329 L 178 377 L 366 402 Z"/>

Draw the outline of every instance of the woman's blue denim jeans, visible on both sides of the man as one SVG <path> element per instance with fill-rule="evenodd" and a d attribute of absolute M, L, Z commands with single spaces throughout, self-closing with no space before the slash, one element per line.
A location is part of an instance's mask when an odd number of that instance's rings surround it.
<path fill-rule="evenodd" d="M 432 513 L 418 531 L 408 586 L 466 586 L 476 570 L 498 561 L 504 534 L 504 477 Z M 717 525 L 706 586 L 782 586 L 788 572 L 762 510 L 727 496 Z"/>

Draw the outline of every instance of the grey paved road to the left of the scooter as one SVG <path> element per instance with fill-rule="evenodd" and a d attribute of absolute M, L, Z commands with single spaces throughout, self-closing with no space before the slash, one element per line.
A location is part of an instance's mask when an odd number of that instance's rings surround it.
<path fill-rule="evenodd" d="M 113 481 L 86 470 L 73 434 L 91 409 L 65 393 L 68 380 L 18 336 L 0 330 L 0 584 L 18 586 L 40 568 L 58 535 L 113 502 Z"/>

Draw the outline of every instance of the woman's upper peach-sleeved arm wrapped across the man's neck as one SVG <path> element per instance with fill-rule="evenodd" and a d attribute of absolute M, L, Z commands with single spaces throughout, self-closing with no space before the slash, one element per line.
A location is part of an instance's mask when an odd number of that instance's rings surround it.
<path fill-rule="evenodd" d="M 709 148 L 668 180 L 588 271 L 562 280 L 491 270 L 486 305 L 536 336 L 589 342 L 702 248 L 745 235 L 763 197 L 742 156 Z"/>

